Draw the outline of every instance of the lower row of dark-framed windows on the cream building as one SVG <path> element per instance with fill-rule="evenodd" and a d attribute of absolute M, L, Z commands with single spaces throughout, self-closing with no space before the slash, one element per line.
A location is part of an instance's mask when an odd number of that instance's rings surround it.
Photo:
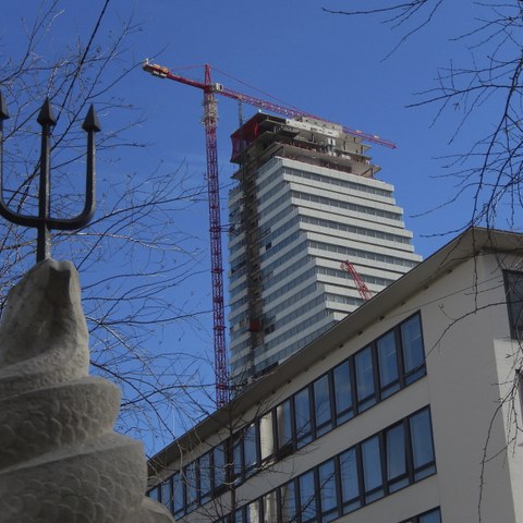
<path fill-rule="evenodd" d="M 217 523 L 325 523 L 436 472 L 425 408 L 238 509 Z M 439 511 L 411 522 L 437 522 Z"/>

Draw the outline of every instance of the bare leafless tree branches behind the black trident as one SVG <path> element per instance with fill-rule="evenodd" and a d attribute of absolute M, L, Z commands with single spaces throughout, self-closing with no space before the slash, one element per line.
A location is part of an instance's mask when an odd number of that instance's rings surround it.
<path fill-rule="evenodd" d="M 202 384 L 206 362 L 177 349 L 173 339 L 173 326 L 182 336 L 205 313 L 194 305 L 186 308 L 186 299 L 177 292 L 197 276 L 202 253 L 184 232 L 183 217 L 188 206 L 205 198 L 204 180 L 190 175 L 186 165 L 173 171 L 161 161 L 149 167 L 150 172 L 130 171 L 115 179 L 120 157 L 136 158 L 146 147 L 136 138 L 139 112 L 121 95 L 123 81 L 139 68 L 127 42 L 139 26 L 132 14 L 121 19 L 120 26 L 114 26 L 114 16 L 109 23 L 111 5 L 105 0 L 96 16 L 84 21 L 85 34 L 70 46 L 53 46 L 60 24 L 71 23 L 64 3 L 41 0 L 37 10 L 26 10 L 27 17 L 21 20 L 25 48 L 10 47 L 0 37 L 0 90 L 11 117 L 4 121 L 2 144 L 4 199 L 14 210 L 35 214 L 40 146 L 36 117 L 49 97 L 57 118 L 51 214 L 78 212 L 85 184 L 82 121 L 95 104 L 102 127 L 97 135 L 98 208 L 80 231 L 53 233 L 52 256 L 71 259 L 78 268 L 93 367 L 123 389 L 119 429 L 135 436 L 145 429 L 149 439 L 169 439 L 172 424 L 166 419 L 174 409 L 191 412 L 194 419 L 206 413 L 205 405 L 212 406 Z M 1 219 L 0 245 L 2 306 L 9 289 L 35 263 L 36 233 Z M 207 385 L 211 390 L 212 384 Z"/>

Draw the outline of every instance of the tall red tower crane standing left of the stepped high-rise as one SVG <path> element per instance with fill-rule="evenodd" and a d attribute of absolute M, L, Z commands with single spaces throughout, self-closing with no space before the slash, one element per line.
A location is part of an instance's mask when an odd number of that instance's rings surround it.
<path fill-rule="evenodd" d="M 210 65 L 205 64 L 204 82 L 187 78 L 173 73 L 169 68 L 150 63 L 146 60 L 143 64 L 144 71 L 159 78 L 168 78 L 191 87 L 197 87 L 204 93 L 204 118 L 205 139 L 207 150 L 207 184 L 209 199 L 209 231 L 210 231 L 210 257 L 211 257 L 211 280 L 212 280 L 212 316 L 214 316 L 214 343 L 215 343 L 215 376 L 216 376 L 216 402 L 218 408 L 223 406 L 229 399 L 229 380 L 227 370 L 226 353 L 226 320 L 223 306 L 223 264 L 221 256 L 221 221 L 220 221 L 220 194 L 218 180 L 218 147 L 216 130 L 218 123 L 217 101 L 215 95 L 224 96 L 239 102 L 245 102 L 258 109 L 263 109 L 290 119 L 313 118 L 332 123 L 324 118 L 318 118 L 295 108 L 284 107 L 279 104 L 263 100 L 226 87 L 223 84 L 214 83 L 211 80 Z M 396 148 L 396 145 L 375 134 L 364 133 L 355 129 L 342 125 L 343 132 L 353 136 Z"/>

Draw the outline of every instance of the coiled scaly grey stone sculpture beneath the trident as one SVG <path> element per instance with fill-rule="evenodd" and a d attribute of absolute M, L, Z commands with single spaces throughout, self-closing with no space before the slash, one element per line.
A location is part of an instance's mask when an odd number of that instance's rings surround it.
<path fill-rule="evenodd" d="M 120 390 L 88 376 L 78 277 L 36 265 L 0 325 L 0 523 L 169 523 L 144 497 L 142 443 L 113 431 Z"/>

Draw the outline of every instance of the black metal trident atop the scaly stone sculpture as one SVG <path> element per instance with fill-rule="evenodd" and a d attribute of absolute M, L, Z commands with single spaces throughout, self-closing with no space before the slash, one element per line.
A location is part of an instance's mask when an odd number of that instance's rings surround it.
<path fill-rule="evenodd" d="M 7 220 L 38 231 L 36 262 L 51 257 L 51 230 L 73 231 L 86 226 L 95 214 L 95 133 L 100 131 L 95 108 L 90 106 L 82 129 L 87 132 L 87 173 L 85 205 L 82 212 L 73 218 L 52 218 L 50 216 L 50 153 L 51 129 L 57 123 L 49 98 L 41 106 L 36 121 L 41 125 L 40 178 L 38 187 L 38 216 L 27 216 L 9 209 L 3 200 L 3 121 L 9 118 L 5 100 L 0 93 L 0 215 Z"/>

